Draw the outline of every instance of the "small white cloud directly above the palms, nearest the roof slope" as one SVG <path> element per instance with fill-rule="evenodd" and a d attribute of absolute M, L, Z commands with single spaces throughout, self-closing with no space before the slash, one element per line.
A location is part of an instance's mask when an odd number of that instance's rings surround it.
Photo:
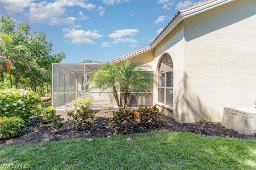
<path fill-rule="evenodd" d="M 125 38 L 127 36 L 135 36 L 138 31 L 139 30 L 136 29 L 116 30 L 114 33 L 108 35 L 108 37 L 114 38 L 113 43 L 138 43 L 138 41 L 133 38 Z"/>

